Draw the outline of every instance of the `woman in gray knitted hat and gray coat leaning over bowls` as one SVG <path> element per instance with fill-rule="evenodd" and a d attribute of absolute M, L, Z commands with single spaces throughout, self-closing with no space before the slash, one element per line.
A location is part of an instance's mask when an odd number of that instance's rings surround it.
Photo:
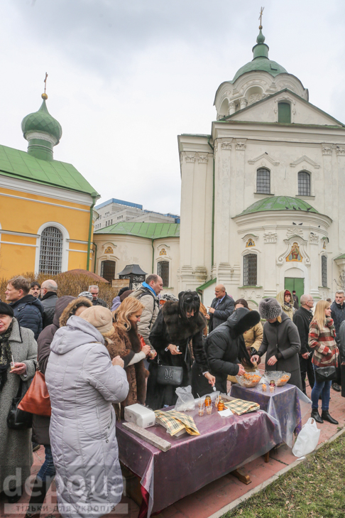
<path fill-rule="evenodd" d="M 300 360 L 300 335 L 297 326 L 283 312 L 275 298 L 263 298 L 259 304 L 261 318 L 267 320 L 263 325 L 263 341 L 252 362 L 258 362 L 266 353 L 265 369 L 290 372 L 289 383 L 302 390 Z"/>

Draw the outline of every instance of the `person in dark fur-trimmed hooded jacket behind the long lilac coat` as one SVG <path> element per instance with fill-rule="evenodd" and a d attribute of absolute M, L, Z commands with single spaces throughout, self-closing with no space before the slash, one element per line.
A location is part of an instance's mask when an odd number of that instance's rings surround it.
<path fill-rule="evenodd" d="M 80 315 L 82 308 L 87 309 L 91 306 L 92 302 L 83 297 L 75 298 L 67 295 L 57 299 L 53 324 L 44 328 L 37 340 L 37 359 L 40 372 L 45 374 L 45 369 L 47 368 L 50 355 L 50 344 L 53 342 L 56 331 L 67 324 L 67 320 L 71 315 L 75 315 L 76 313 Z M 48 492 L 53 477 L 55 476 L 53 455 L 50 448 L 49 426 L 50 417 L 37 416 L 33 414 L 33 441 L 44 445 L 45 461 L 33 482 L 33 494 L 31 495 L 25 518 L 31 518 L 33 516 L 38 517 L 40 515 L 40 509 L 43 505 L 45 495 Z"/>

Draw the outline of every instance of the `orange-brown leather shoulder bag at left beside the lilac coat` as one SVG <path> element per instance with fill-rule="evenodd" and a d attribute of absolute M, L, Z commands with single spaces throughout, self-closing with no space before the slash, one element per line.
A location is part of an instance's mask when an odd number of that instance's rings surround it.
<path fill-rule="evenodd" d="M 36 416 L 50 417 L 52 415 L 50 397 L 45 384 L 45 375 L 39 370 L 35 372 L 30 387 L 18 404 L 18 409 L 30 412 Z"/>

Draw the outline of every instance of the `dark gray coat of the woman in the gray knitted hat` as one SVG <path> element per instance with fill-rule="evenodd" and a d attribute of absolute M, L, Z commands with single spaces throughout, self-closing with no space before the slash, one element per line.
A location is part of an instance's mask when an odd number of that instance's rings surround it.
<path fill-rule="evenodd" d="M 270 324 L 269 322 L 263 325 L 263 341 L 258 354 L 263 355 L 266 353 L 266 370 L 290 372 L 289 383 L 302 390 L 300 360 L 298 357 L 298 353 L 301 350 L 300 335 L 298 334 L 297 326 L 284 311 L 281 314 L 281 318 L 282 321 L 278 325 Z M 275 365 L 267 365 L 270 357 L 277 355 L 279 352 L 282 357 L 278 362 Z"/>

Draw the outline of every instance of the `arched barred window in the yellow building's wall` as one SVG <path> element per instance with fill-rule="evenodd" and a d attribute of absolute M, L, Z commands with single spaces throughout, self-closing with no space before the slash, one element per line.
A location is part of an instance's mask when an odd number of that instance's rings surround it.
<path fill-rule="evenodd" d="M 40 274 L 57 275 L 62 270 L 62 232 L 47 227 L 40 235 Z"/>

